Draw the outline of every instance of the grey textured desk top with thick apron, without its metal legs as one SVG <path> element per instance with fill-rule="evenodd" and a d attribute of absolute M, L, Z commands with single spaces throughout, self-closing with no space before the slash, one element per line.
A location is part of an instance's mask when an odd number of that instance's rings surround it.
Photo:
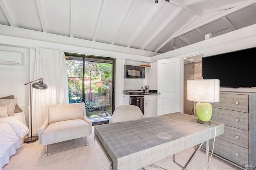
<path fill-rule="evenodd" d="M 224 133 L 224 124 L 197 123 L 185 113 L 170 113 L 94 127 L 94 136 L 113 170 L 136 170 Z M 111 169 L 110 167 L 110 169 Z"/>

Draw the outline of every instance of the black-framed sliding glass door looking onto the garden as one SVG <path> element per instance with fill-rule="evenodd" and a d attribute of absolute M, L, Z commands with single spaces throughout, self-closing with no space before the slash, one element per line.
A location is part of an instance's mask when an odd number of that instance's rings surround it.
<path fill-rule="evenodd" d="M 108 123 L 114 111 L 114 59 L 65 53 L 69 103 L 84 102 L 94 124 Z"/>

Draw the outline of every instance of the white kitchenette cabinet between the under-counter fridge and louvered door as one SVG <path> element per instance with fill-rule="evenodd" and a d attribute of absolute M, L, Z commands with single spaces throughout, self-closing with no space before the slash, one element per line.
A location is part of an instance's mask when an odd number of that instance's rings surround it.
<path fill-rule="evenodd" d="M 146 117 L 157 115 L 157 94 L 147 94 L 144 96 L 144 115 Z"/>

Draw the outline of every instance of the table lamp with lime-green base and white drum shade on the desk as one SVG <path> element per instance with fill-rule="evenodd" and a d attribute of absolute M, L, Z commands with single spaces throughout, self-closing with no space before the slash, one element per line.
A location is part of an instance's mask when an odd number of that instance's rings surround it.
<path fill-rule="evenodd" d="M 220 101 L 220 80 L 187 80 L 188 100 L 196 103 L 198 123 L 210 124 L 212 105 Z M 210 103 L 209 103 L 210 102 Z"/>

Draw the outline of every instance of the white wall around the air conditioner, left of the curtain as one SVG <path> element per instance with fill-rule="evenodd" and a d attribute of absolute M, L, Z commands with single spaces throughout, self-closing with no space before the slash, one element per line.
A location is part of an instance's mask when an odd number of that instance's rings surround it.
<path fill-rule="evenodd" d="M 18 98 L 17 104 L 24 111 L 28 125 L 29 84 L 24 84 L 30 80 L 30 49 L 0 44 L 0 51 L 18 52 L 24 57 L 24 66 L 0 65 L 0 98 L 10 95 Z"/>

